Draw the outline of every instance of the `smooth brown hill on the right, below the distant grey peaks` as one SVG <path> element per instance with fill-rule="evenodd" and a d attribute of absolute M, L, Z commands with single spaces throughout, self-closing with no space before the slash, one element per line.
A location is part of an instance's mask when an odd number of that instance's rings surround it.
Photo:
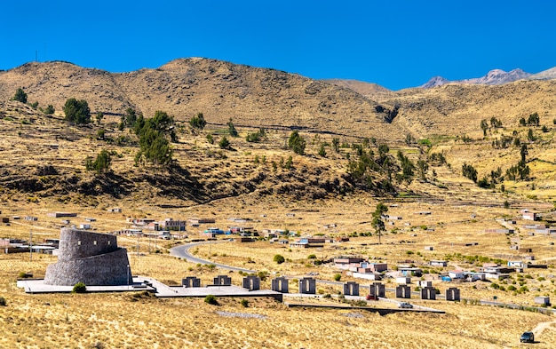
<path fill-rule="evenodd" d="M 433 89 L 397 91 L 394 98 L 377 99 L 400 106 L 397 124 L 417 137 L 481 134 L 482 119 L 496 117 L 517 127 L 521 117 L 541 115 L 541 124 L 556 116 L 556 81 L 518 81 L 486 86 L 449 83 Z"/>

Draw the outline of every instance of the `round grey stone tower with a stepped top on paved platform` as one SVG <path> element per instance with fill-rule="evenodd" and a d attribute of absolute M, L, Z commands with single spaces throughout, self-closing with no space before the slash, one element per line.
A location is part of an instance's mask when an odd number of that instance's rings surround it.
<path fill-rule="evenodd" d="M 46 268 L 47 285 L 114 286 L 132 283 L 127 250 L 109 234 L 62 228 L 58 263 Z"/>

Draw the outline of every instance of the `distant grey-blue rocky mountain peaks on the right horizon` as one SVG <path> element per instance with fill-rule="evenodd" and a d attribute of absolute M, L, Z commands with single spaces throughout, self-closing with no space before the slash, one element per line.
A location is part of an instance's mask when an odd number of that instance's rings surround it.
<path fill-rule="evenodd" d="M 513 69 L 506 72 L 502 69 L 490 70 L 487 75 L 476 77 L 473 79 L 450 81 L 442 76 L 434 76 L 427 83 L 418 86 L 422 89 L 430 89 L 432 87 L 441 86 L 446 83 L 470 83 L 483 85 L 501 85 L 504 83 L 512 83 L 518 80 L 553 80 L 556 79 L 556 67 L 544 70 L 537 74 L 531 74 L 521 69 Z"/>

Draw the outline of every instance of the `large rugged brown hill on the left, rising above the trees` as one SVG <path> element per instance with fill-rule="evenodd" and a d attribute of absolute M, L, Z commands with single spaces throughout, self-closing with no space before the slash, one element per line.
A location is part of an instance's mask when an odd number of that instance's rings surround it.
<path fill-rule="evenodd" d="M 22 87 L 31 102 L 61 110 L 70 97 L 91 111 L 123 114 L 134 107 L 186 121 L 203 112 L 209 123 L 298 128 L 348 136 L 402 139 L 377 103 L 355 91 L 273 69 L 216 59 L 176 59 L 157 69 L 112 74 L 65 62 L 28 63 L 0 73 L 0 100 Z"/>

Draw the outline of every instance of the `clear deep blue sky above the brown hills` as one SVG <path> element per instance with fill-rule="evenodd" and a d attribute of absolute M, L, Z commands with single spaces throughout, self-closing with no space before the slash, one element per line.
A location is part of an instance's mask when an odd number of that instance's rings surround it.
<path fill-rule="evenodd" d="M 556 66 L 556 2 L 7 1 L 0 69 L 36 59 L 127 72 L 205 57 L 389 89 Z"/>

